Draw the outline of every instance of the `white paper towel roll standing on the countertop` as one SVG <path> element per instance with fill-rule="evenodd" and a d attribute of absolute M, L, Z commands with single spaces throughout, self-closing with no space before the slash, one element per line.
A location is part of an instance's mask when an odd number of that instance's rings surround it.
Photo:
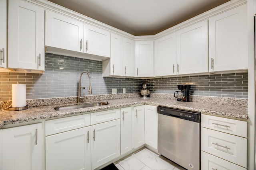
<path fill-rule="evenodd" d="M 12 107 L 26 106 L 26 84 L 12 84 Z"/>

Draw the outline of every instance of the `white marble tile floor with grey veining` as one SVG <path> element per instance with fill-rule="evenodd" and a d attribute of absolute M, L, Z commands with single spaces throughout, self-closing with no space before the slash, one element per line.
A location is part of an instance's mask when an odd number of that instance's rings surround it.
<path fill-rule="evenodd" d="M 142 148 L 114 164 L 119 170 L 186 170 L 146 148 Z"/>

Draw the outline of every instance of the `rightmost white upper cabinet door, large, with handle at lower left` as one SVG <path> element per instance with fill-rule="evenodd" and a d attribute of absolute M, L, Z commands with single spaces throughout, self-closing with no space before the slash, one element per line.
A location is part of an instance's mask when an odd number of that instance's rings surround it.
<path fill-rule="evenodd" d="M 209 18 L 209 71 L 248 68 L 247 4 Z"/>

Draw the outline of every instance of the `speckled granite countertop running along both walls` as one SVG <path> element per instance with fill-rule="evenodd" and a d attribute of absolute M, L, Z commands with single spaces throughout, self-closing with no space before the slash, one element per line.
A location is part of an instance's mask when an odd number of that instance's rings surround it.
<path fill-rule="evenodd" d="M 98 102 L 106 102 L 106 100 Z M 125 107 L 136 104 L 150 104 L 156 106 L 173 107 L 177 109 L 198 111 L 201 113 L 224 116 L 244 121 L 247 121 L 248 119 L 248 111 L 246 106 L 212 104 L 206 102 L 178 102 L 176 100 L 166 98 L 143 99 L 140 97 L 113 99 L 109 100 L 108 102 L 109 104 L 104 106 L 86 107 L 81 109 L 71 109 L 65 111 L 56 111 L 54 109 L 54 107 L 63 106 L 63 104 L 29 107 L 28 109 L 22 111 L 9 111 L 8 109 L 6 109 L 0 111 L 0 128 L 2 128 L 3 125 L 8 124 L 35 121 L 40 119 L 49 119 L 54 117 L 63 117 L 68 115 L 76 115 L 80 113 L 91 113 L 92 111 L 114 109 L 118 107 Z"/>

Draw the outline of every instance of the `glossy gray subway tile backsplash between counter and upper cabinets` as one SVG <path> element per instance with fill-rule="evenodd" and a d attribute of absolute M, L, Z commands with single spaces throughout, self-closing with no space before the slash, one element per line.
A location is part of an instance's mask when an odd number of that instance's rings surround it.
<path fill-rule="evenodd" d="M 12 100 L 12 84 L 19 82 L 27 85 L 27 99 L 58 98 L 78 96 L 80 72 L 88 71 L 91 76 L 92 95 L 140 92 L 146 82 L 152 93 L 173 94 L 177 84 L 194 82 L 191 94 L 198 96 L 217 96 L 231 98 L 248 97 L 248 74 L 209 74 L 198 76 L 178 76 L 171 78 L 106 78 L 102 77 L 102 62 L 62 55 L 45 54 L 44 74 L 0 72 L 0 101 Z M 89 84 L 87 75 L 82 77 L 82 86 Z M 82 93 L 87 94 L 87 89 Z"/>

